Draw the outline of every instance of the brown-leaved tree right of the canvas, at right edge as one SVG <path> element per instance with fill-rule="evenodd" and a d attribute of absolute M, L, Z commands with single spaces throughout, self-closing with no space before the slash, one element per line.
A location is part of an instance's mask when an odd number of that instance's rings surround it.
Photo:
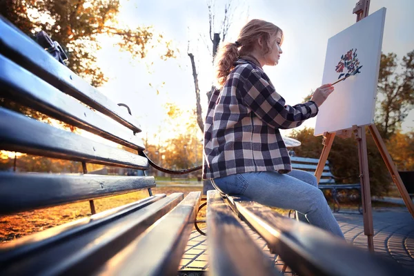
<path fill-rule="evenodd" d="M 414 107 L 414 50 L 408 52 L 397 72 L 397 55 L 381 55 L 378 92 L 384 97 L 377 112 L 381 136 L 389 139 L 400 129 L 402 122 Z"/>

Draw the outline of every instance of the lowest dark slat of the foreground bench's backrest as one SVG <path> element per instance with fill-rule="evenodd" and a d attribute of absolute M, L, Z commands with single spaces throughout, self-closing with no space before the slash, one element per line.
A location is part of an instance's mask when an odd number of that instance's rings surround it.
<path fill-rule="evenodd" d="M 0 215 L 152 187 L 154 177 L 0 172 Z"/>

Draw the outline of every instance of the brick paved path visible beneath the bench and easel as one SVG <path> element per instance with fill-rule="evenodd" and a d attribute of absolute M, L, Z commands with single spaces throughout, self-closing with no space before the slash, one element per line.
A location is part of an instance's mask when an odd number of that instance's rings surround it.
<path fill-rule="evenodd" d="M 334 214 L 346 240 L 351 244 L 367 250 L 367 239 L 364 235 L 362 215 L 359 213 L 335 213 Z M 413 270 L 414 275 L 414 219 L 406 208 L 378 208 L 373 211 L 374 221 L 374 247 L 375 254 L 380 255 L 391 262 Z M 275 255 L 271 255 L 266 242 L 252 230 L 249 231 L 257 244 L 263 248 L 269 258 L 275 262 L 279 270 L 283 262 Z M 181 270 L 206 270 L 208 269 L 208 252 L 206 237 L 193 231 L 186 247 L 186 253 L 179 269 Z M 285 275 L 291 275 L 286 271 Z"/>

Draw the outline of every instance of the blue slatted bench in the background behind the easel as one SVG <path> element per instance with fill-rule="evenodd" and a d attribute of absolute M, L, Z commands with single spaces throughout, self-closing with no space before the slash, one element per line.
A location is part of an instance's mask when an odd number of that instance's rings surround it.
<path fill-rule="evenodd" d="M 291 156 L 292 168 L 297 170 L 306 170 L 311 173 L 315 173 L 317 163 L 319 159 L 305 158 Z M 329 161 L 326 161 L 322 177 L 319 181 L 318 188 L 321 190 L 331 191 L 331 197 L 333 200 L 333 211 L 339 212 L 341 209 L 340 202 L 348 199 L 350 201 L 358 201 L 358 211 L 362 214 L 362 197 L 361 197 L 361 184 L 337 184 L 335 176 L 331 172 Z"/>

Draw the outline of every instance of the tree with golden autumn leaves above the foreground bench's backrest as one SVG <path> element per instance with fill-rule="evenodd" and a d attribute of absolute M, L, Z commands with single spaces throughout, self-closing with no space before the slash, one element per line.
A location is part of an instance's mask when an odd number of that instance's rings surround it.
<path fill-rule="evenodd" d="M 92 86 L 100 86 L 106 81 L 95 64 L 95 53 L 100 48 L 99 36 L 115 37 L 121 50 L 139 58 L 146 56 L 152 43 L 164 40 L 161 35 L 155 37 L 154 30 L 147 26 L 120 27 L 117 21 L 119 0 L 3 0 L 0 12 L 28 35 L 39 30 L 50 34 L 68 51 L 69 68 L 88 79 Z M 166 49 L 161 58 L 174 57 L 170 43 L 164 41 L 164 46 Z"/>

